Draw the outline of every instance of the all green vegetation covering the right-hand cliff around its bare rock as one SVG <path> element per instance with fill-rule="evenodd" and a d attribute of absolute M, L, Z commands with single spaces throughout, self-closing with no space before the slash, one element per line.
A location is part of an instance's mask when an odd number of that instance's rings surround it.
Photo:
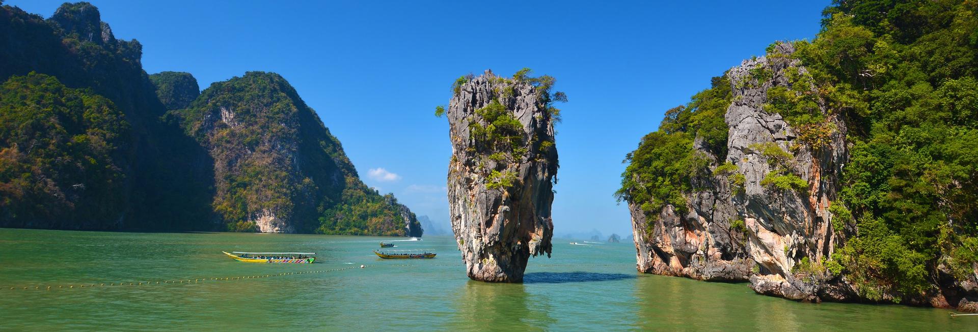
<path fill-rule="evenodd" d="M 773 45 L 764 62 L 741 65 L 752 68 L 749 73 L 716 78 L 690 104 L 668 111 L 659 130 L 628 155 L 631 164 L 618 196 L 641 207 L 633 217 L 647 218 L 649 228 L 638 227 L 648 230 L 661 224 L 663 213 L 683 216 L 693 209 L 689 203 L 698 192 L 730 187 L 733 204 L 745 208 L 724 222 L 733 229 L 730 236 L 742 232 L 746 241 L 733 241 L 731 255 L 759 260 L 750 250 L 768 238 L 765 231 L 790 234 L 750 227 L 755 219 L 777 216 L 750 213 L 754 196 L 742 192 L 745 181 L 751 187 L 744 178 L 747 158 L 729 157 L 727 148 L 742 139 L 733 137 L 737 124 L 731 121 L 739 118 L 730 112 L 742 104 L 740 98 L 751 97 L 728 91 L 763 85 L 766 93 L 757 97 L 762 114 L 786 122 L 780 130 L 787 136 L 737 155 L 757 155 L 780 167 L 759 184 L 768 194 L 815 197 L 812 188 L 838 189 L 827 194 L 833 201 L 813 200 L 806 211 L 815 215 L 805 217 L 809 228 L 829 224 L 830 234 L 822 238 L 831 239 L 824 247 L 830 255 L 807 257 L 793 251 L 793 244 L 790 253 L 785 246 L 794 268 L 784 277 L 816 275 L 843 286 L 822 289 L 816 296 L 824 299 L 978 309 L 978 3 L 835 1 L 823 15 L 814 40 L 790 43 L 785 49 L 793 52 L 787 53 Z M 797 65 L 764 65 L 778 58 Z M 730 77 L 748 79 L 723 82 Z M 840 134 L 844 144 L 833 143 Z M 791 168 L 805 155 L 824 161 L 820 153 L 846 150 L 839 170 L 821 179 Z M 772 265 L 761 266 L 751 274 L 772 272 L 764 270 Z"/>

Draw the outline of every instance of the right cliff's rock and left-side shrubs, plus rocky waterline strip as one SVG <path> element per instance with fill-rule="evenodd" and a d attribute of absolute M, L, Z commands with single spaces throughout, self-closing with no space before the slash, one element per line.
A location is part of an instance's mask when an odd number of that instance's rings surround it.
<path fill-rule="evenodd" d="M 633 165 L 624 175 L 622 196 L 632 212 L 638 270 L 703 280 L 749 280 L 758 293 L 801 301 L 894 301 L 973 310 L 974 302 L 968 299 L 978 290 L 975 274 L 966 271 L 958 273 L 963 279 L 952 277 L 945 263 L 951 262 L 948 257 L 940 258 L 934 268 L 939 281 L 932 288 L 909 293 L 865 279 L 854 281 L 845 271 L 858 267 L 844 264 L 858 264 L 847 257 L 859 254 L 833 255 L 857 234 L 840 198 L 851 144 L 846 141 L 846 122 L 829 110 L 808 69 L 792 57 L 794 52 L 792 44 L 778 43 L 767 57 L 744 61 L 726 73 L 723 81 L 730 94 L 721 114 L 727 135 L 716 136 L 725 139 L 717 141 L 726 141 L 726 148 L 711 145 L 712 134 L 705 127 L 685 127 L 690 114 L 708 111 L 707 102 L 697 95 L 687 113 L 667 112 L 660 132 L 653 133 L 659 136 L 646 137 L 629 155 Z M 712 91 L 727 88 L 715 86 Z M 799 114 L 818 120 L 792 126 L 789 120 L 800 122 Z M 689 187 L 675 200 L 662 191 L 653 194 L 654 199 L 636 199 L 641 194 L 637 192 L 648 187 L 669 185 L 652 185 L 638 171 L 654 168 L 645 159 L 645 154 L 652 154 L 647 149 L 667 145 L 667 140 L 657 138 L 680 140 L 675 138 L 684 135 L 691 145 L 690 159 L 684 160 L 699 165 L 691 167 L 688 178 L 677 178 Z M 662 204 L 658 210 L 656 202 Z"/>

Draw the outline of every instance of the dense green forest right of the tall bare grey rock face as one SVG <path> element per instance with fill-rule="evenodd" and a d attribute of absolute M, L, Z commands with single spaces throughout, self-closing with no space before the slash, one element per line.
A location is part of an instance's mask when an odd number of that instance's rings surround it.
<path fill-rule="evenodd" d="M 819 37 L 795 45 L 850 128 L 841 187 L 858 233 L 840 263 L 867 298 L 918 294 L 942 257 L 950 270 L 978 262 L 966 249 L 978 236 L 978 7 L 838 1 L 824 14 Z"/>

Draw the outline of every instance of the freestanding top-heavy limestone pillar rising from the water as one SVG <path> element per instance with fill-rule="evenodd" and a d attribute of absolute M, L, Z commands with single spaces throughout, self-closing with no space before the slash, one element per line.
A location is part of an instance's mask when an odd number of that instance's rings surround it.
<path fill-rule="evenodd" d="M 530 256 L 551 254 L 559 121 L 550 76 L 491 70 L 460 77 L 447 112 L 452 230 L 471 279 L 521 282 Z"/>

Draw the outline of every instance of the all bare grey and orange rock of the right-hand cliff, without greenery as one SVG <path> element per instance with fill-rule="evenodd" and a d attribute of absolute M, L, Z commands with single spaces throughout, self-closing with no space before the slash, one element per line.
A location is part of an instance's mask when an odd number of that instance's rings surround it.
<path fill-rule="evenodd" d="M 778 44 L 768 57 L 744 61 L 727 73 L 733 100 L 727 108 L 727 156 L 717 156 L 702 140 L 693 148 L 710 172 L 691 180 L 689 210 L 667 205 L 649 223 L 641 202 L 632 202 L 638 268 L 656 274 L 705 280 L 747 280 L 758 292 L 799 300 L 817 300 L 825 280 L 806 283 L 792 270 L 822 264 L 844 229 L 833 231 L 828 213 L 836 199 L 838 175 L 846 158 L 845 124 L 834 117 L 824 145 L 799 140 L 778 113 L 765 110 L 774 87 L 811 92 L 815 87 L 791 75 L 808 75 L 788 56 L 790 44 Z M 823 102 L 817 101 L 822 113 Z M 728 171 L 717 172 L 723 164 Z M 794 176 L 799 187 L 778 187 L 767 179 Z M 733 179 L 739 179 L 734 183 Z M 755 267 L 756 266 L 756 267 Z M 752 271 L 753 270 L 753 271 Z M 834 294 L 828 295 L 834 296 Z"/>

